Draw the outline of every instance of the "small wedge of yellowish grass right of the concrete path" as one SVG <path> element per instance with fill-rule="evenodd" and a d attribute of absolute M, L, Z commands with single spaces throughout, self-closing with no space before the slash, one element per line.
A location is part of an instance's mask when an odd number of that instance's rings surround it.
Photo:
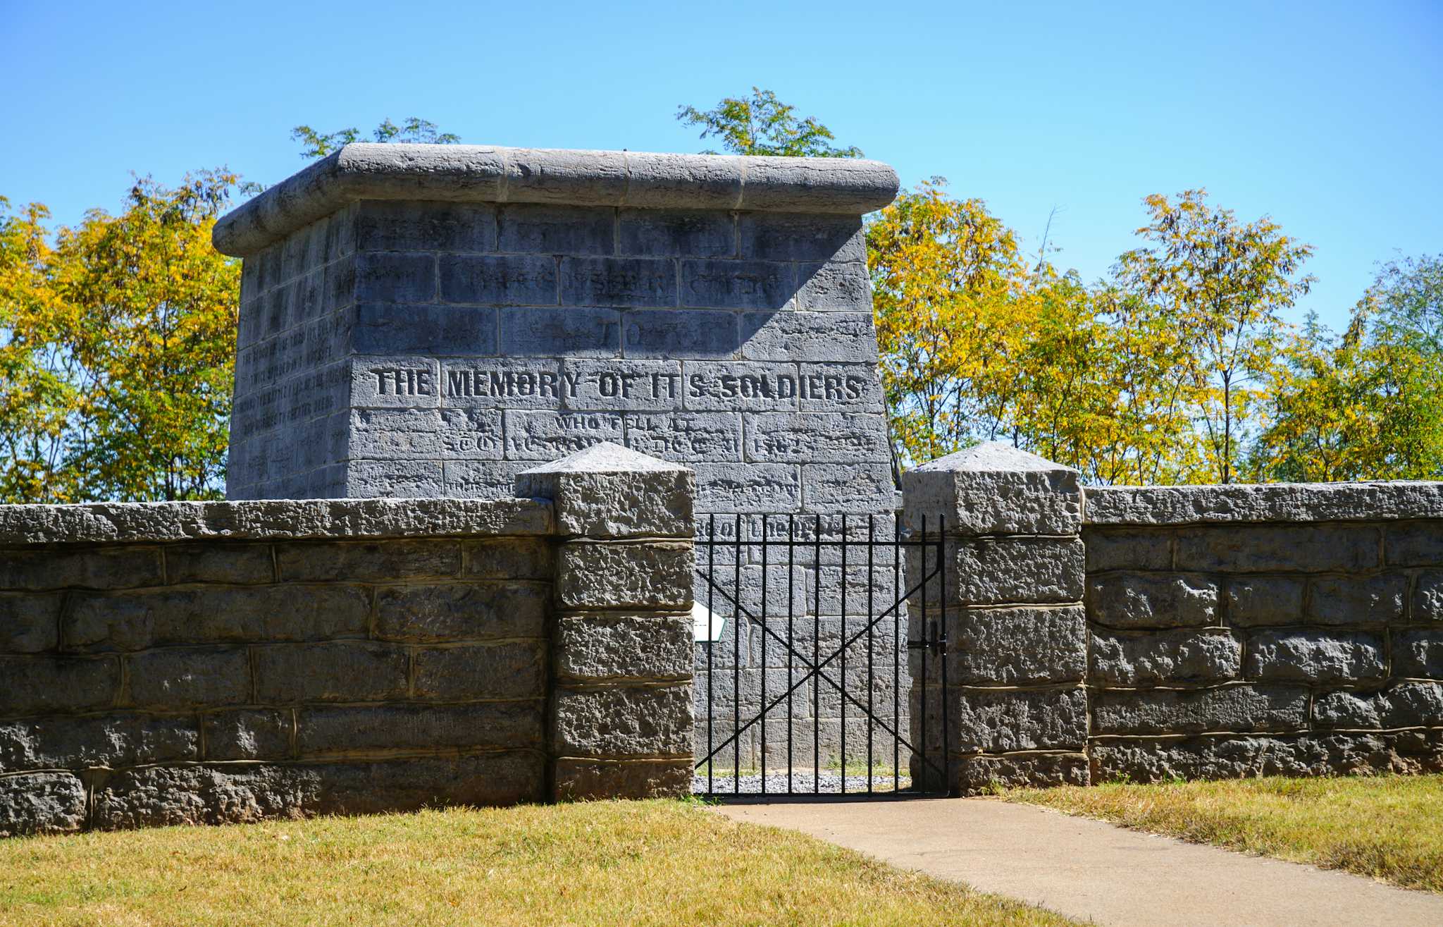
<path fill-rule="evenodd" d="M 1069 785 L 1004 797 L 1443 892 L 1443 775 Z"/>

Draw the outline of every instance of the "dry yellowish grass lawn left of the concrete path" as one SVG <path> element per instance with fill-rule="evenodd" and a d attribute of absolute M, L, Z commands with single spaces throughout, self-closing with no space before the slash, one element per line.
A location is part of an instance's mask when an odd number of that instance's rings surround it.
<path fill-rule="evenodd" d="M 683 801 L 0 840 L 0 924 L 195 923 L 1071 921 Z"/>

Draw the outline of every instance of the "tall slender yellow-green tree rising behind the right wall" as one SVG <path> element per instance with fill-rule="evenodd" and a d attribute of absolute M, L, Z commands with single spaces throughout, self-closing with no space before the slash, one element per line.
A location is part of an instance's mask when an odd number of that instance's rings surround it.
<path fill-rule="evenodd" d="M 1278 351 L 1280 313 L 1313 282 L 1300 276 L 1313 250 L 1268 217 L 1238 222 L 1231 209 L 1209 205 L 1201 189 L 1185 191 L 1176 202 L 1160 195 L 1144 202 L 1152 222 L 1137 234 L 1150 244 L 1123 254 L 1114 276 L 1173 313 L 1196 344 L 1198 422 L 1214 479 L 1231 482 L 1253 425 L 1253 387 Z"/>

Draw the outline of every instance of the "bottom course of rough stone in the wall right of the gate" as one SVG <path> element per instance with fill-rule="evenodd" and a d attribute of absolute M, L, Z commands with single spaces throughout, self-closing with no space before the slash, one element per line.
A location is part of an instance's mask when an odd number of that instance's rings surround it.
<path fill-rule="evenodd" d="M 1443 768 L 1443 742 L 1405 734 L 1102 739 L 1094 741 L 1091 754 L 1092 781 L 1416 774 Z"/>

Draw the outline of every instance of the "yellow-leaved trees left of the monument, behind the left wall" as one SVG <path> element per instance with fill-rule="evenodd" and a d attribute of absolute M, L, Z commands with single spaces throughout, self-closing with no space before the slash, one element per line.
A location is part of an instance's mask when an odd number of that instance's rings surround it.
<path fill-rule="evenodd" d="M 228 172 L 137 179 L 53 244 L 45 206 L 0 215 L 0 500 L 219 498 L 240 261 L 211 228 Z"/>

